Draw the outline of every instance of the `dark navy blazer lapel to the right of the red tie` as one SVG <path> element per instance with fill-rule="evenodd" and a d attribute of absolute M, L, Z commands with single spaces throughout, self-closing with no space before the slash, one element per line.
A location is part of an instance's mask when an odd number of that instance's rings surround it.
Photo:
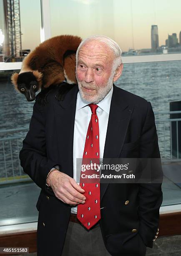
<path fill-rule="evenodd" d="M 124 90 L 113 85 L 103 159 L 120 156 L 133 108 L 134 104 L 124 97 Z M 108 183 L 101 183 L 101 199 L 107 187 Z"/>

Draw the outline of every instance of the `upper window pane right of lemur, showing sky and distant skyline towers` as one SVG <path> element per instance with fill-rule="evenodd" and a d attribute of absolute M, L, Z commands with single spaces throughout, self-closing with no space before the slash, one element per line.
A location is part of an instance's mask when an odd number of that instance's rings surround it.
<path fill-rule="evenodd" d="M 178 0 L 53 0 L 52 36 L 102 34 L 123 56 L 181 53 L 180 7 Z"/>

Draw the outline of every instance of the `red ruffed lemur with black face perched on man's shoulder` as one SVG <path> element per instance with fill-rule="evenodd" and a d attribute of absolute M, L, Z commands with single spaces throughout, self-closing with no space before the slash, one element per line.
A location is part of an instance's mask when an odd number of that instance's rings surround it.
<path fill-rule="evenodd" d="M 41 89 L 45 100 L 51 88 L 60 85 L 59 100 L 64 92 L 77 84 L 75 76 L 76 51 L 82 39 L 78 36 L 62 35 L 52 37 L 39 44 L 23 60 L 22 68 L 11 76 L 15 90 L 25 95 L 28 101 L 35 100 L 35 93 Z M 66 84 L 62 83 L 66 80 Z"/>

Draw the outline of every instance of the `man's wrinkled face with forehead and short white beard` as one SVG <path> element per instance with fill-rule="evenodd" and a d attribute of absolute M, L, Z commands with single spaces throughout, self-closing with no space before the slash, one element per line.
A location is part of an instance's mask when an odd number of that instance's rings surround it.
<path fill-rule="evenodd" d="M 113 85 L 114 54 L 103 42 L 89 41 L 80 48 L 76 76 L 82 98 L 98 103 Z"/>

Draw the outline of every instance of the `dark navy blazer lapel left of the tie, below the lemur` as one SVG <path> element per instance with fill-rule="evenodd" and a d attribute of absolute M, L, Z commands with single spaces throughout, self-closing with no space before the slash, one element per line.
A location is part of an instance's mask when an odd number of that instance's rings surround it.
<path fill-rule="evenodd" d="M 68 92 L 63 101 L 54 101 L 55 129 L 58 139 L 60 170 L 73 177 L 73 133 L 78 87 Z"/>

